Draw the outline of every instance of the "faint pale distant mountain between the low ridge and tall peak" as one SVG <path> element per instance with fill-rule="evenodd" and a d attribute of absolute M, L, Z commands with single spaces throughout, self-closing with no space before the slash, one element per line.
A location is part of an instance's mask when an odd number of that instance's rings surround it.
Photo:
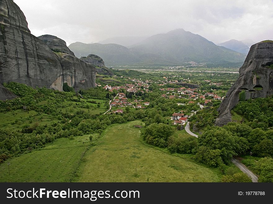
<path fill-rule="evenodd" d="M 122 45 L 125 47 L 129 47 L 129 46 L 139 43 L 140 41 L 144 40 L 145 38 L 147 38 L 147 37 L 145 37 L 145 36 L 111 37 L 106 40 L 100 41 L 98 43 L 100 43 L 100 44 L 114 43 L 114 44 Z"/>

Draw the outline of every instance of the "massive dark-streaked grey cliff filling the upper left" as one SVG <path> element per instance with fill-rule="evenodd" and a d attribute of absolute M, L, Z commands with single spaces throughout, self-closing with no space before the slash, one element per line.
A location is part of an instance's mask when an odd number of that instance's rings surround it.
<path fill-rule="evenodd" d="M 25 15 L 13 1 L 0 1 L 0 16 L 0 84 L 15 81 L 58 90 L 65 82 L 75 90 L 95 86 L 96 68 L 74 57 L 65 42 L 55 36 L 47 40 L 51 40 L 49 46 L 59 46 L 68 54 L 54 53 L 30 33 Z M 6 93 L 3 89 L 0 95 Z"/>

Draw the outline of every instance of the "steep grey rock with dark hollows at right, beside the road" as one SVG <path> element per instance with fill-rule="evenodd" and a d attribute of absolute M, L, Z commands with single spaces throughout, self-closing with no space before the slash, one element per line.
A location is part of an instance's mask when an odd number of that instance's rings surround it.
<path fill-rule="evenodd" d="M 266 98 L 273 94 L 273 41 L 262 41 L 251 46 L 239 70 L 239 78 L 230 87 L 218 108 L 215 124 L 222 126 L 231 122 L 231 109 L 240 100 Z"/>

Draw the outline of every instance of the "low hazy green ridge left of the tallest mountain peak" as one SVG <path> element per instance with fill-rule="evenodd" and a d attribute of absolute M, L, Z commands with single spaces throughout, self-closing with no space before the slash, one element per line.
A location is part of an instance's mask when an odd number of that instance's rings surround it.
<path fill-rule="evenodd" d="M 138 56 L 131 52 L 127 47 L 117 44 L 85 44 L 75 42 L 70 44 L 69 49 L 74 50 L 76 57 L 86 57 L 89 54 L 100 56 L 106 66 L 132 64 L 139 61 Z"/>

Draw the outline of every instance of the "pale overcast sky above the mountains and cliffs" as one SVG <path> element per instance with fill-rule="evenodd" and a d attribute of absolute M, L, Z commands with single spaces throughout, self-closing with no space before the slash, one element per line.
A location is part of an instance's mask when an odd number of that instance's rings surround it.
<path fill-rule="evenodd" d="M 273 0 L 14 0 L 31 33 L 67 45 L 183 28 L 214 43 L 273 40 Z"/>

